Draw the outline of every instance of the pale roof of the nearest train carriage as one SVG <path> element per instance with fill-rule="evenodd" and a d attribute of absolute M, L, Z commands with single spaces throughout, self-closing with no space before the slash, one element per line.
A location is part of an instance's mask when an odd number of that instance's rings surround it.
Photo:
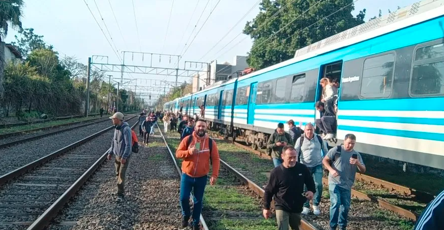
<path fill-rule="evenodd" d="M 239 77 L 238 81 L 444 15 L 444 0 L 424 0 L 296 50 L 294 58 Z"/>

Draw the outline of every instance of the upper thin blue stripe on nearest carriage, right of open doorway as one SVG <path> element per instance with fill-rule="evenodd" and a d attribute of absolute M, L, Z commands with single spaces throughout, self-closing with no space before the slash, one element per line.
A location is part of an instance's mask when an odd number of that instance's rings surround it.
<path fill-rule="evenodd" d="M 365 114 L 365 112 L 363 112 Z M 356 120 L 369 122 L 392 122 L 402 124 L 420 124 L 420 125 L 444 125 L 444 119 L 430 118 L 389 118 L 389 117 L 360 117 L 360 116 L 339 116 L 339 120 Z M 341 121 L 339 121 L 341 123 Z"/>

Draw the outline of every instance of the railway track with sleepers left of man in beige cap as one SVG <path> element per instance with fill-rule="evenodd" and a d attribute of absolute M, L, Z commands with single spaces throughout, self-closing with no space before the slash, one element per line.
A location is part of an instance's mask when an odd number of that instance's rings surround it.
<path fill-rule="evenodd" d="M 137 124 L 137 118 L 129 120 Z M 97 169 L 98 159 L 106 158 L 112 129 L 108 124 L 108 128 L 80 141 L 80 147 L 63 155 L 53 153 L 52 160 L 42 158 L 38 167 L 35 164 L 16 170 L 14 179 L 2 176 L 9 180 L 0 187 L 0 229 L 43 229 Z"/>

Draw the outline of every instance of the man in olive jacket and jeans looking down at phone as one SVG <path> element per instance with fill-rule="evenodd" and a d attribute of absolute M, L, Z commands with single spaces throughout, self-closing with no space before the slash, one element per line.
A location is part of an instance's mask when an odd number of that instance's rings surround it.
<path fill-rule="evenodd" d="M 284 131 L 284 124 L 279 123 L 276 131 L 270 136 L 267 142 L 267 151 L 273 159 L 273 164 L 278 167 L 282 164 L 282 149 L 287 146 L 294 146 L 291 136 Z"/>

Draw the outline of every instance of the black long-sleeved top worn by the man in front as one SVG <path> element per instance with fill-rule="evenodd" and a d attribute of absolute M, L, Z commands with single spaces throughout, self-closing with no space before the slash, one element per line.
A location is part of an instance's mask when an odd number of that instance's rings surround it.
<path fill-rule="evenodd" d="M 265 188 L 264 208 L 270 209 L 274 196 L 275 209 L 290 213 L 300 213 L 307 200 L 302 196 L 304 184 L 307 190 L 315 192 L 313 177 L 307 166 L 296 163 L 294 167 L 285 168 L 283 165 L 274 168 L 270 173 L 270 180 Z"/>

